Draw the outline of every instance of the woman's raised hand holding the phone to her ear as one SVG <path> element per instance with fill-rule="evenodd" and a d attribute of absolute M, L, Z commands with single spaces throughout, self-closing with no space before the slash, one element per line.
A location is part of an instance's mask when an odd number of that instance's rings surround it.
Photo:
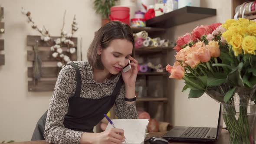
<path fill-rule="evenodd" d="M 131 61 L 131 69 L 125 73 L 122 72 L 122 77 L 125 82 L 125 86 L 134 87 L 138 74 L 138 61 L 131 56 L 129 57 L 129 59 Z"/>

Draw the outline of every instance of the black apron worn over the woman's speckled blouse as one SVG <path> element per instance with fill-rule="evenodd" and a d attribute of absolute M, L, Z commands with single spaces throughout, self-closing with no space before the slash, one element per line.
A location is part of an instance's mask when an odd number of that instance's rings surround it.
<path fill-rule="evenodd" d="M 99 99 L 82 98 L 80 97 L 81 92 L 81 74 L 74 63 L 69 63 L 76 70 L 76 89 L 75 95 L 69 98 L 69 109 L 64 117 L 63 124 L 65 128 L 74 131 L 93 132 L 93 127 L 97 125 L 103 118 L 104 114 L 115 104 L 115 99 L 120 91 L 123 84 L 122 76 L 118 79 L 117 84 L 112 92 L 112 95 L 105 96 Z M 39 119 L 36 124 L 36 128 L 33 132 L 31 141 L 44 140 L 43 131 L 46 122 L 46 113 Z"/>

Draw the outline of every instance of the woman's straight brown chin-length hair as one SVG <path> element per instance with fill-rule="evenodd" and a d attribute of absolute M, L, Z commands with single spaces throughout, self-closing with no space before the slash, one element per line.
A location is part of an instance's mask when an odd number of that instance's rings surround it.
<path fill-rule="evenodd" d="M 132 43 L 132 54 L 134 54 L 135 42 L 130 26 L 120 21 L 111 21 L 98 29 L 88 49 L 88 62 L 94 69 L 104 69 L 100 56 L 97 54 L 97 49 L 99 47 L 107 48 L 114 39 L 130 41 Z"/>

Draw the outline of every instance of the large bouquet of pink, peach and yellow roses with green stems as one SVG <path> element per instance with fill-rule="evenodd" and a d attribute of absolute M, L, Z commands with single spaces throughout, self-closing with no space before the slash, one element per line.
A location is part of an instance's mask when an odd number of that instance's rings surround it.
<path fill-rule="evenodd" d="M 178 37 L 176 43 L 176 62 L 167 65 L 166 70 L 171 73 L 169 78 L 185 80 L 182 91 L 189 92 L 189 98 L 207 93 L 223 105 L 234 105 L 235 96 L 240 105 L 256 103 L 255 21 L 241 18 L 197 26 L 191 33 Z M 243 108 L 240 107 L 238 120 L 235 116 L 224 116 L 230 141 L 254 144 L 245 116 L 247 109 Z"/>

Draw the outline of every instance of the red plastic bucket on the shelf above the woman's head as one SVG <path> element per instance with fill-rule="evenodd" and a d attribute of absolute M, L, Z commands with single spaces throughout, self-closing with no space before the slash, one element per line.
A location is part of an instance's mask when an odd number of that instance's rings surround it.
<path fill-rule="evenodd" d="M 119 20 L 123 23 L 130 25 L 130 8 L 129 7 L 111 7 L 110 8 L 110 20 Z"/>

